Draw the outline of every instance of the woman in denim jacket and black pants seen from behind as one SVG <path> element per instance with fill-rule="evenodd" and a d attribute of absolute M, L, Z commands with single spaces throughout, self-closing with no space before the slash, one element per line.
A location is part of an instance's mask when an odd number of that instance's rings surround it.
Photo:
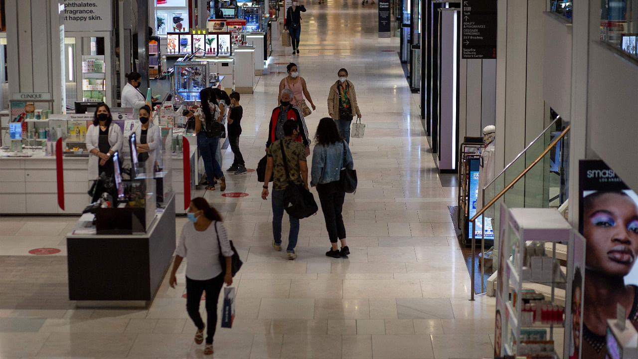
<path fill-rule="evenodd" d="M 325 255 L 333 258 L 345 257 L 350 254 L 346 245 L 346 227 L 343 225 L 341 216 L 346 193 L 339 186 L 339 174 L 344 167 L 354 168 L 352 153 L 346 141 L 339 135 L 337 125 L 331 118 L 322 118 L 319 121 L 315 141 L 310 185 L 317 187 L 325 227 L 332 245 Z M 343 163 L 344 150 L 346 151 L 345 163 Z M 337 238 L 341 240 L 341 250 L 337 249 Z"/>

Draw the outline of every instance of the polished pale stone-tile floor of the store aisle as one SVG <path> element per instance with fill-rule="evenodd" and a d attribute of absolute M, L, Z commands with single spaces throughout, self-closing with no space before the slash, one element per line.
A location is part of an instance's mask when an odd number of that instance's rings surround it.
<path fill-rule="evenodd" d="M 376 36 L 376 7 L 359 1 L 308 4 L 300 54 L 273 41 L 268 72 L 242 95 L 241 148 L 247 166 L 263 156 L 268 116 L 285 64 L 299 65 L 317 110 L 327 116 L 337 70 L 355 84 L 363 139 L 352 139 L 359 189 L 346 195 L 348 259 L 324 255 L 322 215 L 301 222 L 295 261 L 274 252 L 271 203 L 255 173 L 228 175 L 226 198 L 207 192 L 244 260 L 235 277 L 237 315 L 218 329 L 215 358 L 483 358 L 493 352 L 494 300 L 469 302 L 470 277 L 442 187 L 396 52 L 397 38 Z M 283 65 L 282 65 L 283 64 Z M 228 167 L 232 153 L 224 155 Z M 168 278 L 147 310 L 75 309 L 64 293 L 64 234 L 76 218 L 0 217 L 0 358 L 204 358 L 185 310 L 184 266 L 176 289 Z M 177 218 L 177 230 L 186 222 Z M 284 231 L 287 231 L 285 220 Z M 284 235 L 284 237 L 286 237 Z M 28 250 L 59 248 L 29 262 Z M 6 264 L 6 266 L 4 266 Z M 54 268 L 50 273 L 41 266 Z M 28 266 L 31 271 L 16 269 Z M 57 268 L 57 269 L 55 269 Z M 15 276 L 25 275 L 22 280 Z M 59 275 L 56 275 L 58 273 Z M 9 282 L 7 277 L 13 277 Z M 4 279 L 2 279 L 4 278 Z M 8 290 L 7 288 L 11 288 Z M 62 288 L 62 289 L 61 289 Z M 10 292 L 10 293 L 9 293 Z M 202 309 L 203 311 L 203 309 Z"/>

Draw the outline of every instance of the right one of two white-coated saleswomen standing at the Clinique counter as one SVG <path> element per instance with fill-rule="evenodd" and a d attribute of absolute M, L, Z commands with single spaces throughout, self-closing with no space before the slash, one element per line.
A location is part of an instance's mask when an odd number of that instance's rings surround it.
<path fill-rule="evenodd" d="M 135 134 L 135 145 L 137 151 L 137 161 L 140 165 L 146 165 L 147 160 L 150 159 L 150 163 L 154 168 L 155 162 L 158 159 L 156 153 L 161 150 L 161 130 L 159 126 L 154 125 L 151 119 L 151 107 L 147 105 L 142 106 L 139 112 L 140 121 L 133 128 Z"/>

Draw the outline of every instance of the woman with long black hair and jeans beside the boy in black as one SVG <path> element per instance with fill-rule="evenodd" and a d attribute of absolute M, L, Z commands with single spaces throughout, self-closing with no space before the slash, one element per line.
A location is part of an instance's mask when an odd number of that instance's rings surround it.
<path fill-rule="evenodd" d="M 204 169 L 208 178 L 207 190 L 215 190 L 215 179 L 219 179 L 219 189 L 226 190 L 226 178 L 221 171 L 219 162 L 215 159 L 215 153 L 219 147 L 219 134 L 221 134 L 221 118 L 215 95 L 211 89 L 200 91 L 202 107 L 195 111 L 195 134 L 197 134 L 197 148 L 204 160 Z"/>

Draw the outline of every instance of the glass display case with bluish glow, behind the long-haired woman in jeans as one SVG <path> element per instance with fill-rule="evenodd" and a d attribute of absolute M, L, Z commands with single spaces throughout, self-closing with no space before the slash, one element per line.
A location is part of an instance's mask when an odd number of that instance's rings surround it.
<path fill-rule="evenodd" d="M 209 84 L 207 61 L 177 61 L 174 73 L 175 93 L 181 95 L 186 101 L 199 101 L 200 91 L 207 88 Z"/>

